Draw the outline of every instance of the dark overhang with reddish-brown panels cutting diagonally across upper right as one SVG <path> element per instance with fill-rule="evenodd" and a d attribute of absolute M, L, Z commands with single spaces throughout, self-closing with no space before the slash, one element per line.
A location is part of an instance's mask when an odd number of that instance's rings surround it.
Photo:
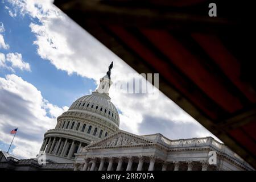
<path fill-rule="evenodd" d="M 211 2 L 217 17 L 208 16 Z M 138 73 L 159 73 L 166 96 L 256 167 L 255 20 L 246 2 L 54 3 Z"/>

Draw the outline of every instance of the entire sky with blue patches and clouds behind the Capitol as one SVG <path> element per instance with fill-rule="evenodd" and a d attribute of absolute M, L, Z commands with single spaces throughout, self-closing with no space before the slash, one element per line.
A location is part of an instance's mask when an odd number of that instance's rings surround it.
<path fill-rule="evenodd" d="M 35 157 L 43 134 L 77 98 L 97 88 L 114 62 L 112 80 L 127 82 L 137 74 L 88 32 L 47 0 L 0 2 L 0 150 Z M 143 135 L 162 133 L 170 139 L 212 136 L 164 94 L 118 92 L 120 128 Z M 214 137 L 216 138 L 216 137 Z"/>

